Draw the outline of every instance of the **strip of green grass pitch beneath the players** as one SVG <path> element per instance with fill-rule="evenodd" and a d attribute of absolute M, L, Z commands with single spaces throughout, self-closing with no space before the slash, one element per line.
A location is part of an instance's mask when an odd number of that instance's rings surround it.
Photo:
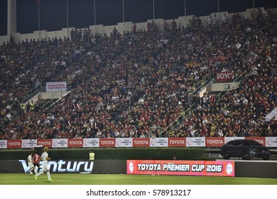
<path fill-rule="evenodd" d="M 239 178 L 214 176 L 150 176 L 125 174 L 1 173 L 0 185 L 277 185 L 277 178 Z"/>

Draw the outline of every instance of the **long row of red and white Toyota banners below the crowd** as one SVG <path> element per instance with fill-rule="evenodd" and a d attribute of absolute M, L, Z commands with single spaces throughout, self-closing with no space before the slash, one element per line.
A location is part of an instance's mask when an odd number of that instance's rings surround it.
<path fill-rule="evenodd" d="M 267 147 L 277 147 L 277 137 L 180 137 L 180 138 L 85 138 L 0 140 L 0 149 L 49 148 L 139 148 L 139 147 L 221 147 L 234 139 L 253 139 Z"/>

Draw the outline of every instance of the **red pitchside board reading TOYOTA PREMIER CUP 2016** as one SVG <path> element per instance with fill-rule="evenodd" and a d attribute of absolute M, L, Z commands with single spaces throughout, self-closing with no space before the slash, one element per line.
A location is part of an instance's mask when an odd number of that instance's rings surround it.
<path fill-rule="evenodd" d="M 128 160 L 127 174 L 234 177 L 234 164 L 234 161 Z"/>

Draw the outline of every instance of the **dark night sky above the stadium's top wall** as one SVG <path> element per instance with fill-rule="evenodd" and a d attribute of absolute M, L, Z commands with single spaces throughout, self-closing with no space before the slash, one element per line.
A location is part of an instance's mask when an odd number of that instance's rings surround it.
<path fill-rule="evenodd" d="M 116 25 L 123 21 L 123 0 L 68 0 L 68 27 Z M 217 12 L 218 0 L 155 0 L 155 18 L 178 18 L 186 14 L 207 16 Z M 124 21 L 145 22 L 153 17 L 152 0 L 124 0 Z M 277 1 L 254 0 L 255 7 L 277 8 Z M 6 35 L 7 0 L 0 0 L 0 35 Z M 219 11 L 245 11 L 253 7 L 253 0 L 219 0 Z M 67 0 L 40 0 L 41 30 L 58 31 L 67 27 Z M 17 32 L 38 31 L 36 0 L 17 0 Z M 96 17 L 94 17 L 96 16 Z"/>

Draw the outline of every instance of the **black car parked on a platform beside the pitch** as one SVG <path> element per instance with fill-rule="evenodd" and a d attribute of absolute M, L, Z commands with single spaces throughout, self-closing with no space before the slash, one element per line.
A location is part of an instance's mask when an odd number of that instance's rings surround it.
<path fill-rule="evenodd" d="M 220 154 L 224 159 L 239 157 L 244 160 L 249 160 L 250 158 L 256 157 L 268 160 L 271 156 L 271 151 L 266 146 L 252 139 L 234 139 L 221 147 Z"/>

